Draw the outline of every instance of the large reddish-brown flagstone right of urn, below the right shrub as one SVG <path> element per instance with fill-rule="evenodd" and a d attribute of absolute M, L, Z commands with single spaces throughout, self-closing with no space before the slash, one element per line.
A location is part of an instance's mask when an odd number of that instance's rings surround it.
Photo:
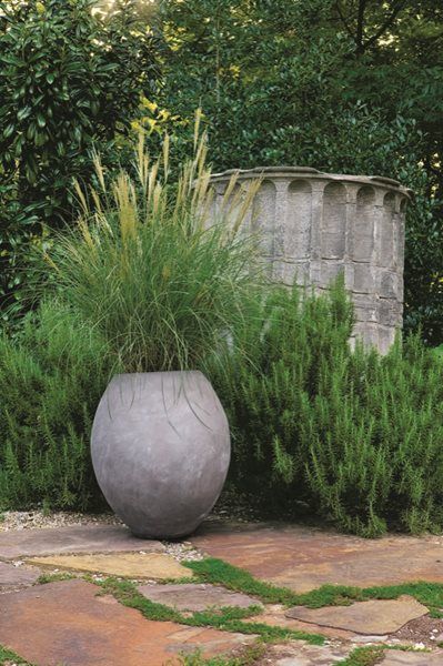
<path fill-rule="evenodd" d="M 207 522 L 189 541 L 213 557 L 295 592 L 325 583 L 358 587 L 443 583 L 443 537 L 437 536 L 365 539 L 316 527 Z"/>

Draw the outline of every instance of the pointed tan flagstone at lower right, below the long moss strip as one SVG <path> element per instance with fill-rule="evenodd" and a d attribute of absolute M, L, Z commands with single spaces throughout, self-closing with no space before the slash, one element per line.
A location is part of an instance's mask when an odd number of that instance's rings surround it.
<path fill-rule="evenodd" d="M 427 608 L 412 597 L 359 602 L 351 606 L 305 608 L 295 606 L 286 617 L 313 622 L 320 626 L 336 627 L 356 634 L 392 634 L 411 619 L 426 615 Z"/>

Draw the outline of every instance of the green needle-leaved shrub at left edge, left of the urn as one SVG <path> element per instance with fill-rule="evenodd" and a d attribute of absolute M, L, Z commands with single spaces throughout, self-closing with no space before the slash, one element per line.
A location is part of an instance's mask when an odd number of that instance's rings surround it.
<path fill-rule="evenodd" d="M 111 372 L 102 341 L 59 302 L 43 303 L 13 342 L 0 337 L 0 505 L 92 508 L 89 454 Z"/>

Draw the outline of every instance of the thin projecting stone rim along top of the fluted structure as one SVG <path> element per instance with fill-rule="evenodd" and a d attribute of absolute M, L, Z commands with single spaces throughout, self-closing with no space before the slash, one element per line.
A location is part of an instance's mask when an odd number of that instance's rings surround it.
<path fill-rule="evenodd" d="M 383 175 L 352 175 L 348 173 L 324 173 L 311 167 L 255 167 L 254 169 L 228 169 L 220 173 L 213 173 L 210 182 L 221 182 L 230 179 L 233 174 L 238 174 L 239 181 L 251 180 L 269 174 L 272 179 L 288 178 L 309 178 L 315 180 L 328 181 L 348 181 L 361 184 L 382 185 L 386 190 L 401 192 L 407 199 L 413 198 L 413 190 L 404 188 L 399 181 Z"/>

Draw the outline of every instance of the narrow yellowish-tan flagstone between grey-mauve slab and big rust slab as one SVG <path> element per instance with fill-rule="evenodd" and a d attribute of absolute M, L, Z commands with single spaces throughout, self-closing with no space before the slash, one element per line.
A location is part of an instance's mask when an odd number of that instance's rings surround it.
<path fill-rule="evenodd" d="M 34 557 L 31 564 L 69 571 L 94 572 L 127 578 L 183 578 L 191 576 L 182 566 L 164 553 L 114 553 L 95 555 L 59 555 Z"/>

